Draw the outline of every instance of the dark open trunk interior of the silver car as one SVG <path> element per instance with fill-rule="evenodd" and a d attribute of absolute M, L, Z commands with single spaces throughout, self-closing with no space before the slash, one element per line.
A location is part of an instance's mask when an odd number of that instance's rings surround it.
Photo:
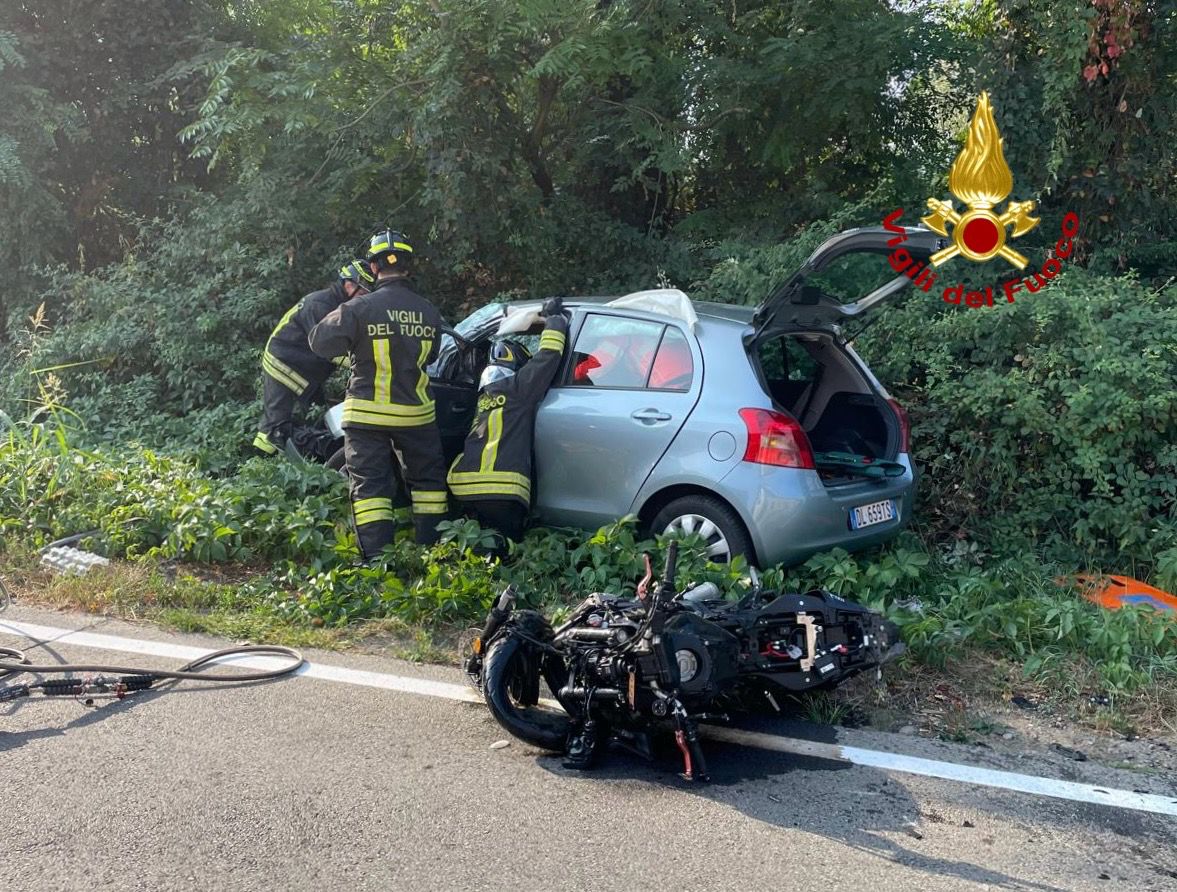
<path fill-rule="evenodd" d="M 765 391 L 800 422 L 813 452 L 846 452 L 893 460 L 899 452 L 895 411 L 826 332 L 791 332 L 753 346 Z M 822 472 L 833 485 L 851 479 Z"/>

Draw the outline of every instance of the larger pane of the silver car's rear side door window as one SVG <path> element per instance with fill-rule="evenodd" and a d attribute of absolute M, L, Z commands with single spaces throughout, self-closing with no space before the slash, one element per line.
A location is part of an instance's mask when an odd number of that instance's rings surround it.
<path fill-rule="evenodd" d="M 645 387 L 665 325 L 590 314 L 577 335 L 566 384 Z"/>

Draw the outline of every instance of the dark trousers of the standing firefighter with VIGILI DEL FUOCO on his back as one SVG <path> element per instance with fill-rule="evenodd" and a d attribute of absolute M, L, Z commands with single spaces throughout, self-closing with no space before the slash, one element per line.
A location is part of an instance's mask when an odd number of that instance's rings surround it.
<path fill-rule="evenodd" d="M 360 553 L 367 561 L 392 541 L 397 525 L 392 500 L 397 493 L 392 457 L 404 471 L 413 507 L 418 545 L 438 540 L 438 524 L 446 515 L 445 455 L 437 425 L 344 431 L 344 454 L 352 479 L 352 519 Z"/>

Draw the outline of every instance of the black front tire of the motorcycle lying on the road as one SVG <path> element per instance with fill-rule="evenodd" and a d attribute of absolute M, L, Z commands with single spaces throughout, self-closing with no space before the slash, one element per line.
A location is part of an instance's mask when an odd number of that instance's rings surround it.
<path fill-rule="evenodd" d="M 496 721 L 512 737 L 563 753 L 568 717 L 527 705 L 538 700 L 540 657 L 533 645 L 510 631 L 496 639 L 483 664 L 483 695 Z"/>

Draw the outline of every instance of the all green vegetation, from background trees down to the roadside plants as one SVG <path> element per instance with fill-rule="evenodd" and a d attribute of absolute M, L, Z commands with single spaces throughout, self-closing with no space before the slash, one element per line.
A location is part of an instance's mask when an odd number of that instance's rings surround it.
<path fill-rule="evenodd" d="M 274 319 L 385 222 L 451 320 L 659 281 L 756 304 L 833 232 L 913 224 L 989 89 L 1043 219 L 1019 249 L 1073 211 L 1076 262 L 1011 305 L 917 292 L 849 332 L 911 415 L 918 525 L 767 577 L 887 610 L 925 661 L 1171 678 L 1171 624 L 1053 580 L 1177 588 L 1175 26 L 1157 0 L 5 4 L 0 534 L 245 567 L 177 595 L 186 621 L 460 625 L 507 583 L 557 611 L 632 586 L 660 545 L 627 522 L 494 564 L 457 521 L 358 568 L 339 478 L 247 458 Z"/>

